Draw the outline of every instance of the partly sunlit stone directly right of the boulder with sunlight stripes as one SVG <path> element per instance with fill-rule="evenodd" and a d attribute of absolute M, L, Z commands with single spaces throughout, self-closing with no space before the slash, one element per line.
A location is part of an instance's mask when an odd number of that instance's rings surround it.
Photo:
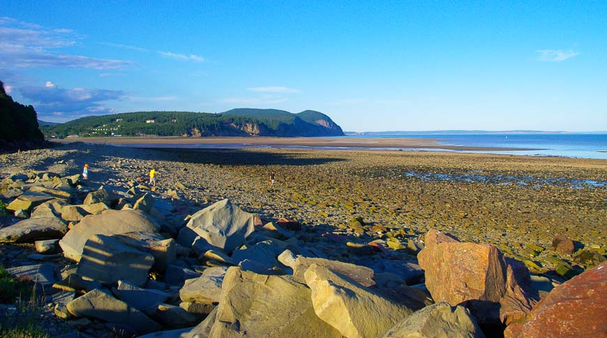
<path fill-rule="evenodd" d="M 147 252 L 154 257 L 153 270 L 163 272 L 177 259 L 177 242 L 165 239 L 157 233 L 134 231 L 114 235 L 114 238 L 130 247 Z"/>

